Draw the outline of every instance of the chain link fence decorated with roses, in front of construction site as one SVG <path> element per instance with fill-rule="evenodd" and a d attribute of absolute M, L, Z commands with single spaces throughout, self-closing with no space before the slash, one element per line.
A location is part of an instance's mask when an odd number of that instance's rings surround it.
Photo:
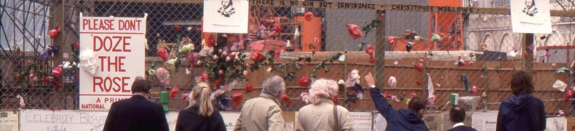
<path fill-rule="evenodd" d="M 575 113 L 571 101 L 565 101 L 565 93 L 553 88 L 556 80 L 565 82 L 569 87 L 566 90 L 574 85 L 569 71 L 573 69 L 575 54 L 575 50 L 571 49 L 575 48 L 572 46 L 575 38 L 572 31 L 574 18 L 567 14 L 553 14 L 553 34 L 534 34 L 534 47 L 529 47 L 521 44 L 522 34 L 512 33 L 509 11 L 499 9 L 508 8 L 505 3 L 498 7 L 492 4 L 489 9 L 484 9 L 494 12 L 454 13 L 425 10 L 425 7 L 452 6 L 435 1 L 362 1 L 366 3 L 355 5 L 353 3 L 356 1 L 329 1 L 339 2 L 338 7 L 323 6 L 314 1 L 299 1 L 298 6 L 288 6 L 293 4 L 290 2 L 298 1 L 284 1 L 288 2 L 286 5 L 265 2 L 250 2 L 249 33 L 226 34 L 227 49 L 239 49 L 237 43 L 240 42 L 246 42 L 245 49 L 241 50 L 246 53 L 256 49 L 269 50 L 265 46 L 253 46 L 255 44 L 286 47 L 282 48 L 280 60 L 249 72 L 246 76 L 249 81 L 240 82 L 232 91 L 224 94 L 228 97 L 232 97 L 234 92 L 242 93 L 244 101 L 258 97 L 259 86 L 265 78 L 283 76 L 286 78 L 286 96 L 291 100 L 283 101 L 283 108 L 296 111 L 305 105 L 298 98 L 307 91 L 306 87 L 298 85 L 301 77 L 346 81 L 349 73 L 355 69 L 361 77 L 359 84 L 363 86 L 366 86 L 364 77 L 367 73 L 375 74 L 377 85 L 384 89 L 382 92 L 389 94 L 388 100 L 397 100 L 392 102 L 394 108 L 407 108 L 406 101 L 411 96 L 430 98 L 431 86 L 435 90 L 432 94 L 435 101 L 430 101 L 428 110 L 445 110 L 452 93 L 460 97 L 471 96 L 469 102 L 463 103 L 473 103 L 475 106 L 468 107 L 473 110 L 497 110 L 501 100 L 512 95 L 509 84 L 512 74 L 522 70 L 525 64 L 531 64 L 522 60 L 531 55 L 523 51 L 533 50 L 533 69 L 527 71 L 534 73 L 534 96 L 545 101 L 548 116 L 557 115 L 559 110 L 565 110 L 571 116 Z M 488 7 L 482 4 L 483 1 L 453 2 L 463 7 Z M 390 8 L 384 9 L 391 10 L 376 10 L 379 8 L 374 6 L 382 4 L 373 3 L 385 3 L 383 5 Z M 554 1 L 551 6 L 551 10 L 571 10 L 570 7 L 573 7 L 568 1 Z M 202 32 L 201 1 L 5 0 L 1 7 L 2 109 L 78 109 L 79 70 L 75 63 L 78 61 L 78 50 L 74 45 L 79 42 L 80 13 L 85 17 L 144 17 L 147 14 L 149 49 L 145 54 L 146 69 L 151 69 L 152 63 L 155 68 L 162 67 L 154 62 L 161 61 L 156 56 L 158 49 L 180 42 L 175 37 L 175 25 L 182 27 L 182 38 L 196 47 L 191 52 L 199 52 L 202 40 L 209 35 L 222 35 Z M 313 17 L 307 20 L 306 13 L 312 13 Z M 281 33 L 270 35 L 275 31 L 274 23 L 278 23 Z M 353 26 L 349 24 L 356 25 L 363 37 L 350 37 L 348 27 Z M 56 27 L 61 30 L 60 34 L 50 38 L 49 31 Z M 246 39 L 251 43 L 247 43 Z M 53 49 L 56 46 L 58 51 Z M 48 47 L 52 48 L 53 53 L 46 51 Z M 371 56 L 366 51 L 370 47 L 375 50 Z M 293 64 L 281 66 L 282 63 L 294 62 L 298 57 L 312 59 L 297 62 L 296 65 L 301 66 L 297 69 L 293 68 Z M 324 59 L 331 59 L 332 62 Z M 181 90 L 177 96 L 189 93 L 195 84 L 194 78 L 204 72 L 201 66 L 195 65 L 186 73 L 184 69 L 190 68 L 190 63 L 182 61 L 179 72 L 171 72 L 173 82 L 170 85 L 151 80 L 155 85 L 151 100 L 159 102 L 159 92 L 169 91 L 175 86 Z M 63 72 L 60 76 L 54 76 L 52 70 L 60 64 L 63 64 Z M 284 70 L 277 71 L 276 67 Z M 563 67 L 567 69 L 565 73 L 557 71 Z M 268 68 L 274 70 L 267 72 Z M 390 77 L 396 78 L 396 87 L 388 84 Z M 467 89 L 466 82 L 469 82 Z M 255 92 L 244 93 L 247 84 L 253 84 Z M 352 112 L 373 111 L 375 109 L 367 89 L 342 88 L 338 102 Z M 361 90 L 365 92 L 361 93 Z M 469 93 L 466 90 L 470 90 Z M 25 106 L 20 105 L 18 96 L 22 97 Z M 186 101 L 181 97 L 171 98 L 168 106 L 179 110 L 186 107 Z"/>

